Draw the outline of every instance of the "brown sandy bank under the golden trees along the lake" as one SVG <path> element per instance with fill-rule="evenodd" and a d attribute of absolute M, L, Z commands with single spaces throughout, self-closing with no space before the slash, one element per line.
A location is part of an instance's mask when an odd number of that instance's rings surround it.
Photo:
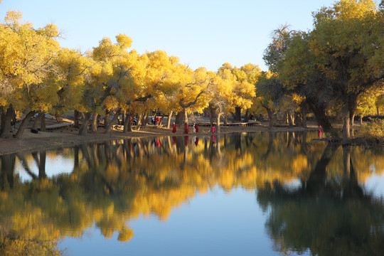
<path fill-rule="evenodd" d="M 70 120 L 67 120 L 70 121 Z M 47 120 L 47 126 L 54 124 L 55 121 Z M 318 129 L 315 123 L 309 123 L 308 128 L 303 127 L 273 127 L 269 129 L 267 122 L 262 122 L 260 125 L 252 127 L 232 126 L 232 127 L 220 127 L 220 134 L 233 133 L 233 132 L 299 132 L 304 130 L 316 130 Z M 31 127 L 31 124 L 29 125 Z M 192 134 L 192 127 L 189 131 Z M 176 134 L 172 133 L 172 129 L 166 129 L 165 127 L 155 127 L 148 125 L 146 128 L 142 128 L 139 131 L 128 132 L 124 134 L 119 130 L 112 130 L 109 134 L 105 134 L 105 129 L 99 127 L 97 133 L 87 134 L 86 136 L 79 136 L 78 129 L 73 127 L 65 127 L 55 129 L 53 132 L 38 132 L 33 134 L 30 128 L 25 129 L 23 137 L 21 139 L 15 139 L 10 137 L 9 139 L 0 139 L 0 155 L 11 154 L 19 151 L 33 151 L 41 149 L 54 149 L 57 147 L 73 146 L 82 142 L 102 142 L 109 139 L 125 139 L 125 138 L 137 138 L 137 137 L 154 137 L 154 136 L 182 136 L 183 129 L 178 129 Z M 15 134 L 14 131 L 12 134 Z M 198 135 L 212 134 L 210 127 L 199 127 Z"/>

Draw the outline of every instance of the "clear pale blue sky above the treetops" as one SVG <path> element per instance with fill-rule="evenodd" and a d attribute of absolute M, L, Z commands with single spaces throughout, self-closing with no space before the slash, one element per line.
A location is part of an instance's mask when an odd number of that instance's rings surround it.
<path fill-rule="evenodd" d="M 195 69 L 216 71 L 223 63 L 267 70 L 262 53 L 272 31 L 284 23 L 312 28 L 312 11 L 334 0 L 3 0 L 0 17 L 20 10 L 35 28 L 55 23 L 60 45 L 92 50 L 107 36 L 126 33 L 139 53 L 165 50 Z"/>

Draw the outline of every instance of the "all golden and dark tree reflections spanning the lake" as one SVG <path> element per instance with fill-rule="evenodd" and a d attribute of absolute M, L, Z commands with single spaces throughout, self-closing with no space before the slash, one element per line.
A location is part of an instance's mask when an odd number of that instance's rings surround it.
<path fill-rule="evenodd" d="M 383 250 L 383 201 L 362 184 L 384 167 L 383 152 L 310 142 L 314 134 L 223 134 L 80 144 L 60 151 L 1 156 L 0 250 L 59 254 L 56 242 L 95 225 L 128 241 L 129 220 L 169 218 L 214 186 L 257 191 L 266 227 L 281 252 L 319 255 Z M 48 177 L 46 159 L 73 162 Z M 16 166 L 31 180 L 22 182 Z M 301 181 L 292 189 L 287 184 Z M 6 254 L 5 254 L 6 255 Z"/>

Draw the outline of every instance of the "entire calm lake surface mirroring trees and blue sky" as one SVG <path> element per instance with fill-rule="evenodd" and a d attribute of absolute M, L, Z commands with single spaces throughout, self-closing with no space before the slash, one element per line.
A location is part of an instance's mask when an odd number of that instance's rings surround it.
<path fill-rule="evenodd" d="M 316 132 L 1 156 L 0 255 L 384 255 L 384 151 Z"/>

